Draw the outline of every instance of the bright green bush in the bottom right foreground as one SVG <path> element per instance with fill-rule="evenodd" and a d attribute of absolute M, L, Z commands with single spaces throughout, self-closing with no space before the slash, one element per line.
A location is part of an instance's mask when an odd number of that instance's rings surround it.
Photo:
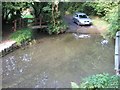
<path fill-rule="evenodd" d="M 72 88 L 87 88 L 88 90 L 95 90 L 97 88 L 118 88 L 119 76 L 111 76 L 109 74 L 97 74 L 83 79 L 83 82 L 78 86 L 72 82 Z"/>

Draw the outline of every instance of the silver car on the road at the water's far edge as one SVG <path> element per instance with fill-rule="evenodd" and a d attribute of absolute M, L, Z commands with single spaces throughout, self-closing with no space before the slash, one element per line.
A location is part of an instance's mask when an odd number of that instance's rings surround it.
<path fill-rule="evenodd" d="M 92 25 L 92 20 L 85 13 L 77 12 L 73 15 L 72 18 L 74 23 L 77 25 Z"/>

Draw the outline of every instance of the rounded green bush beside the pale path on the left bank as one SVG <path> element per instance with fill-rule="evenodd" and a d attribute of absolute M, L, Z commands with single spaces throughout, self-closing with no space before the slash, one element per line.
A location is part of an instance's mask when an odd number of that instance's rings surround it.
<path fill-rule="evenodd" d="M 32 30 L 31 29 L 22 29 L 14 32 L 10 38 L 15 40 L 18 45 L 21 45 L 22 42 L 32 39 Z"/>

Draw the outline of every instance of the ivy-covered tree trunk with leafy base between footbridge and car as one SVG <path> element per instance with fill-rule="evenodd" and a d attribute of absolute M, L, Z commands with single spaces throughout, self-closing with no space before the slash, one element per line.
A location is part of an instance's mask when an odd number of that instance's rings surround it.
<path fill-rule="evenodd" d="M 46 7 L 43 8 L 43 14 L 46 14 L 48 24 L 49 34 L 59 34 L 63 33 L 67 29 L 67 24 L 62 19 L 62 7 L 61 3 L 48 3 Z M 45 19 L 46 19 L 45 17 Z"/>

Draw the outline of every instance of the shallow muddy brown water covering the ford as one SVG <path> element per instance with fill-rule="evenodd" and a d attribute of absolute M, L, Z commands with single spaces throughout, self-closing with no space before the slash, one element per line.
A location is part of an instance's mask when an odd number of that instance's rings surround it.
<path fill-rule="evenodd" d="M 101 40 L 96 35 L 75 39 L 72 34 L 38 39 L 2 58 L 3 87 L 68 88 L 89 75 L 114 74 L 114 43 L 102 46 Z"/>

